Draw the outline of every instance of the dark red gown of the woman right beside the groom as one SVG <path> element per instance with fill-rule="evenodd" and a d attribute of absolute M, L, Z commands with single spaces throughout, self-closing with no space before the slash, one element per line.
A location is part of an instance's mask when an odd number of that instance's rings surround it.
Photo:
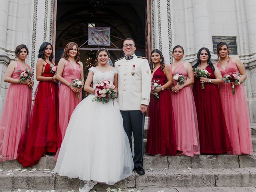
<path fill-rule="evenodd" d="M 161 85 L 167 82 L 161 67 L 154 72 L 152 82 L 153 80 L 159 80 L 158 84 Z M 159 99 L 150 94 L 147 153 L 176 155 L 177 144 L 170 90 L 165 89 L 158 94 Z"/>

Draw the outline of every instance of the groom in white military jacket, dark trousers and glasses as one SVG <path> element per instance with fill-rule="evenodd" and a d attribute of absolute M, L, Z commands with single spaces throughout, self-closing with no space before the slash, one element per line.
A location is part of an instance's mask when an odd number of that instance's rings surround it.
<path fill-rule="evenodd" d="M 134 40 L 125 39 L 125 57 L 116 60 L 115 67 L 118 69 L 118 103 L 131 150 L 132 133 L 134 137 L 134 170 L 143 175 L 143 130 L 150 99 L 151 71 L 147 58 L 136 56 L 135 50 Z"/>

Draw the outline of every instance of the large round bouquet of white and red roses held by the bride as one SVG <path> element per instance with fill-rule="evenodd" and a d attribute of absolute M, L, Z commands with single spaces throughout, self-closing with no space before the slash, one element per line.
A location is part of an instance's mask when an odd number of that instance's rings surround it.
<path fill-rule="evenodd" d="M 112 98 L 114 104 L 114 98 L 116 98 L 116 92 L 114 91 L 114 88 L 115 86 L 113 82 L 108 79 L 98 82 L 94 91 L 95 97 L 93 100 L 97 102 L 108 103 L 110 98 Z"/>

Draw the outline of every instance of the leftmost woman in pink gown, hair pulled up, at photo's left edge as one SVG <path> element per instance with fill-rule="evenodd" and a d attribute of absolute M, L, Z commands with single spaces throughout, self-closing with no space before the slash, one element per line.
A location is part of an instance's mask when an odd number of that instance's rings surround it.
<path fill-rule="evenodd" d="M 26 69 L 31 71 L 30 66 L 25 63 L 27 56 L 26 45 L 17 46 L 15 50 L 17 60 L 8 65 L 4 76 L 4 82 L 10 83 L 10 86 L 0 120 L 0 161 L 17 158 L 20 137 L 28 128 L 34 82 L 19 80 L 22 71 Z"/>

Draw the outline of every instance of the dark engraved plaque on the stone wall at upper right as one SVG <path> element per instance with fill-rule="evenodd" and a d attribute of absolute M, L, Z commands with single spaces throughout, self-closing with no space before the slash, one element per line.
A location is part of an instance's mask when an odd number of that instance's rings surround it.
<path fill-rule="evenodd" d="M 236 36 L 212 36 L 213 52 L 217 54 L 217 45 L 219 42 L 226 42 L 228 44 L 229 54 L 237 55 Z"/>

